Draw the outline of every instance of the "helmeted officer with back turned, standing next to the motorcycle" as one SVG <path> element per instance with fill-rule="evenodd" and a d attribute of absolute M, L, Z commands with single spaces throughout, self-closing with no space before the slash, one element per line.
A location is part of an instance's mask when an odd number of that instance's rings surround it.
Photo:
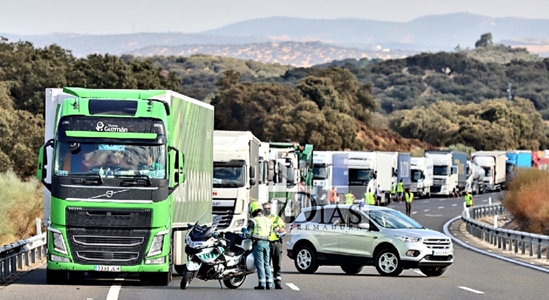
<path fill-rule="evenodd" d="M 271 266 L 269 264 L 269 236 L 271 235 L 272 224 L 271 220 L 262 214 L 261 205 L 257 202 L 250 203 L 251 218 L 248 223 L 248 228 L 243 228 L 244 236 L 250 238 L 254 242 L 254 261 L 257 268 L 257 277 L 259 285 L 254 287 L 255 290 L 270 290 L 273 283 Z"/>

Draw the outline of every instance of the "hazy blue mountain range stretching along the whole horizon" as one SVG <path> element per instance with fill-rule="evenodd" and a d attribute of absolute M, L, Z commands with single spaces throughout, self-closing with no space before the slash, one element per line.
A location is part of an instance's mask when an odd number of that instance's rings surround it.
<path fill-rule="evenodd" d="M 183 54 L 203 50 L 206 51 L 203 53 L 208 54 L 235 55 L 232 50 L 228 49 L 239 48 L 243 53 L 238 53 L 238 55 L 246 58 L 255 57 L 265 62 L 272 62 L 261 58 L 270 56 L 270 53 L 245 53 L 251 44 L 258 44 L 254 46 L 255 48 L 252 47 L 256 49 L 254 51 L 258 51 L 257 49 L 268 51 L 273 49 L 270 46 L 266 47 L 265 43 L 321 42 L 322 44 L 316 45 L 329 44 L 330 47 L 335 47 L 333 49 L 337 49 L 337 55 L 327 54 L 323 50 L 316 49 L 315 52 L 322 53 L 323 56 L 315 59 L 324 62 L 346 58 L 348 54 L 351 55 L 350 53 L 358 55 L 354 58 L 360 59 L 363 53 L 382 52 L 384 57 L 398 57 L 402 53 L 450 51 L 458 44 L 462 48 L 473 48 L 480 35 L 486 32 L 492 33 L 495 43 L 506 41 L 511 43 L 508 45 L 513 46 L 517 44 L 517 41 L 547 41 L 549 39 L 547 28 L 549 28 L 549 20 L 545 19 L 490 18 L 482 15 L 457 13 L 424 16 L 409 22 L 273 17 L 241 21 L 201 33 L 133 33 L 126 35 L 53 33 L 40 36 L 15 36 L 0 33 L 0 36 L 7 37 L 10 41 L 30 41 L 38 47 L 55 43 L 65 49 L 70 49 L 76 56 L 85 56 L 90 53 Z M 302 44 L 298 48 L 310 47 L 307 45 L 309 44 Z M 516 46 L 526 47 L 529 44 L 519 43 Z M 321 48 L 326 47 L 322 46 Z M 352 49 L 343 51 L 342 48 Z M 544 55 L 546 51 L 549 51 L 549 42 L 526 48 L 534 53 Z M 395 50 L 401 51 L 394 54 Z M 343 52 L 348 54 L 341 54 Z M 301 62 L 305 60 L 299 58 Z"/>

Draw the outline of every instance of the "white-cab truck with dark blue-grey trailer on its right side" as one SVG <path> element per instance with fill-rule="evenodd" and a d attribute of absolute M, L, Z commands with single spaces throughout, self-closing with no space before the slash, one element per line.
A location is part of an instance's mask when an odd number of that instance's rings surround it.
<path fill-rule="evenodd" d="M 463 193 L 467 181 L 467 154 L 460 151 L 425 151 L 425 157 L 433 159 L 434 195 L 452 195 L 454 189 Z"/>

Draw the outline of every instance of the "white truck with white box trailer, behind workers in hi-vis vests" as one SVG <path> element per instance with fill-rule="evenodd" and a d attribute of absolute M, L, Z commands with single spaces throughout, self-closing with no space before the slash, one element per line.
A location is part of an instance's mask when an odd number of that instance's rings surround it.
<path fill-rule="evenodd" d="M 396 186 L 397 152 L 361 152 L 349 154 L 349 192 L 365 201 L 365 193 L 382 190 L 381 205 L 389 202 L 391 183 Z"/>

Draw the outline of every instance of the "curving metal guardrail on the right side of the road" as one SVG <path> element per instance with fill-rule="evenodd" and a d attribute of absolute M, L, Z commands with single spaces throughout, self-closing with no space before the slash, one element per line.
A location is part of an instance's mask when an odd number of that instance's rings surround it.
<path fill-rule="evenodd" d="M 525 255 L 526 244 L 528 244 L 529 256 L 534 256 L 534 248 L 536 248 L 537 258 L 541 259 L 541 246 L 544 246 L 546 257 L 549 259 L 549 236 L 492 227 L 477 221 L 478 218 L 498 216 L 506 212 L 502 204 L 473 206 L 463 211 L 461 219 L 467 224 L 468 233 L 494 246 L 497 245 L 497 248 L 503 248 L 503 250 L 508 248 L 509 251 L 513 251 L 514 246 L 514 253 L 518 253 L 520 248 L 520 253 Z"/>

